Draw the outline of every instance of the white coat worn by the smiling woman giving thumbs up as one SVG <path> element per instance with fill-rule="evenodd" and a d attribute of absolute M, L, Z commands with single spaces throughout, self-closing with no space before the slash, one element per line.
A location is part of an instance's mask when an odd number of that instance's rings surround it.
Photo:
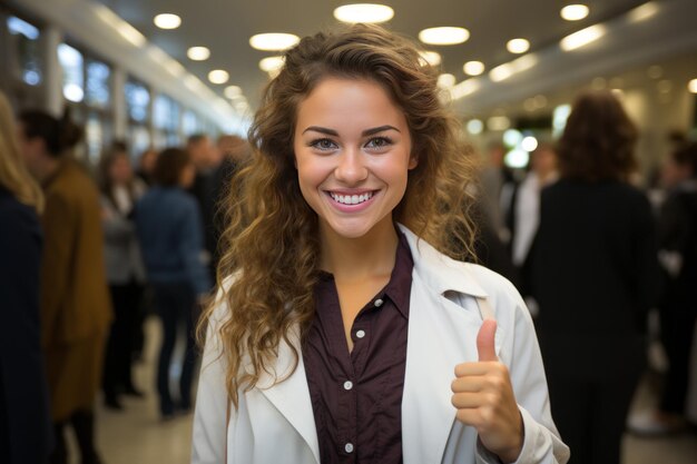
<path fill-rule="evenodd" d="M 402 398 L 404 464 L 499 463 L 477 440 L 477 431 L 455 419 L 451 383 L 455 365 L 478 359 L 482 315 L 477 298 L 487 298 L 497 322 L 497 354 L 509 371 L 524 426 L 518 463 L 566 463 L 569 448 L 550 415 L 547 382 L 528 309 L 514 287 L 481 266 L 454 261 L 406 235 L 414 259 L 409 313 L 406 372 Z M 222 305 L 219 324 L 227 309 Z M 295 372 L 274 385 L 264 376 L 239 393 L 230 407 L 225 391 L 225 361 L 216 328 L 204 351 L 194 419 L 194 464 L 318 464 L 320 448 L 302 356 Z M 297 336 L 293 344 L 298 354 Z M 293 363 L 282 342 L 276 373 Z M 360 446 L 360 444 L 359 444 Z"/>

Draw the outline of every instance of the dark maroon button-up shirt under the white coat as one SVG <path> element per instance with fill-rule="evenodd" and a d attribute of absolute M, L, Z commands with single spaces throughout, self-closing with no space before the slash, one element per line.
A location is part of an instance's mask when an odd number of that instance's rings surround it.
<path fill-rule="evenodd" d="M 331 274 L 315 287 L 316 316 L 303 362 L 322 464 L 402 463 L 402 392 L 412 285 L 409 244 L 399 233 L 387 285 L 361 309 L 348 353 Z"/>

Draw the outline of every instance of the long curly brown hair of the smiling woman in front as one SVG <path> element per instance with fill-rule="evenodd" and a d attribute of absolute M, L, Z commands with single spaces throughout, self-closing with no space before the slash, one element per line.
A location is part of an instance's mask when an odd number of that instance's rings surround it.
<path fill-rule="evenodd" d="M 242 388 L 253 388 L 262 373 L 272 372 L 281 340 L 293 347 L 291 339 L 304 337 L 315 314 L 318 219 L 300 190 L 293 137 L 298 105 L 330 77 L 376 82 L 404 111 L 419 165 L 409 171 L 394 220 L 452 257 L 473 255 L 468 186 L 474 160 L 459 122 L 439 100 L 434 70 L 420 61 L 410 41 L 376 26 L 304 38 L 285 53 L 249 129 L 254 154 L 233 179 L 236 195 L 225 201 L 220 290 L 199 325 L 199 339 L 210 325 L 222 340 L 235 406 Z M 216 308 L 225 312 L 217 326 L 209 324 Z M 296 349 L 294 355 L 293 369 Z"/>

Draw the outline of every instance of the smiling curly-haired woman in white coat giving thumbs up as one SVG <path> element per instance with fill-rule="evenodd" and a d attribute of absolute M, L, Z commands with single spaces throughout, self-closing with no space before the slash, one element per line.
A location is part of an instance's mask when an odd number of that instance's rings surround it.
<path fill-rule="evenodd" d="M 228 198 L 193 462 L 565 463 L 522 299 L 452 259 L 473 161 L 434 70 L 374 26 L 284 59 Z"/>

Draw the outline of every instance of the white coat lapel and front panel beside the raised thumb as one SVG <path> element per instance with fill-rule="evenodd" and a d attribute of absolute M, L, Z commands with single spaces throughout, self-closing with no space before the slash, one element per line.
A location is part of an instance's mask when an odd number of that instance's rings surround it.
<path fill-rule="evenodd" d="M 402 398 L 404 463 L 439 464 L 455 421 L 451 403 L 455 366 L 478 359 L 475 337 L 482 317 L 475 299 L 468 296 L 487 294 L 465 265 L 401 229 L 414 259 Z"/>

